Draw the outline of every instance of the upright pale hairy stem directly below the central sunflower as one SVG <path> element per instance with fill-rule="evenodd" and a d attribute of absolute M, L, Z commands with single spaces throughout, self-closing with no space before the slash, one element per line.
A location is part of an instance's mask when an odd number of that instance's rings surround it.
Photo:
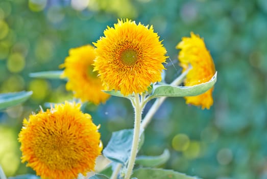
<path fill-rule="evenodd" d="M 135 164 L 136 154 L 137 154 L 137 150 L 138 150 L 139 137 L 140 137 L 140 123 L 141 123 L 142 106 L 143 105 L 141 104 L 141 102 L 139 100 L 138 94 L 135 94 L 134 100 L 135 100 L 135 105 L 133 105 L 133 107 L 134 107 L 134 111 L 135 111 L 135 120 L 134 120 L 133 143 L 132 143 L 132 149 L 131 149 L 131 154 L 130 154 L 126 174 L 124 177 L 125 179 L 129 179 L 131 174 L 132 174 L 133 167 Z"/>

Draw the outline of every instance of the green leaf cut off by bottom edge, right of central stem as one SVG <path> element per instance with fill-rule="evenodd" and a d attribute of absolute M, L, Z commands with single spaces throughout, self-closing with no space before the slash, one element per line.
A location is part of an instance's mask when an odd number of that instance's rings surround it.
<path fill-rule="evenodd" d="M 133 171 L 131 177 L 145 179 L 200 179 L 196 176 L 187 176 L 174 170 L 166 170 L 160 168 L 139 168 Z"/>

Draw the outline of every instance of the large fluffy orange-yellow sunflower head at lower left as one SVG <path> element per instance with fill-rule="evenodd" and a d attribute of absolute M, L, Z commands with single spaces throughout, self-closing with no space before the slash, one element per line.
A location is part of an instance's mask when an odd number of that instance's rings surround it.
<path fill-rule="evenodd" d="M 42 178 L 73 179 L 93 170 L 100 155 L 100 133 L 80 104 L 68 103 L 23 120 L 18 135 L 22 162 Z"/>

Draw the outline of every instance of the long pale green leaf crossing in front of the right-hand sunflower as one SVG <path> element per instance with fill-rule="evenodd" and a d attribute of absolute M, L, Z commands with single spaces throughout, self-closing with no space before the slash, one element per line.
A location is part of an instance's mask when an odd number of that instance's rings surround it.
<path fill-rule="evenodd" d="M 172 85 L 154 85 L 153 92 L 150 99 L 159 97 L 185 97 L 185 96 L 197 96 L 208 89 L 210 89 L 217 80 L 217 72 L 214 76 L 205 83 L 197 84 L 194 86 L 172 86 Z"/>

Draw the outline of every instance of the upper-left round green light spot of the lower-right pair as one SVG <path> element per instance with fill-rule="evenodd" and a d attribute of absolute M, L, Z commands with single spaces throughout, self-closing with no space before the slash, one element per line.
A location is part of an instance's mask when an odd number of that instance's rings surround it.
<path fill-rule="evenodd" d="M 176 151 L 184 151 L 188 148 L 190 139 L 184 133 L 179 133 L 172 140 L 172 146 Z"/>

